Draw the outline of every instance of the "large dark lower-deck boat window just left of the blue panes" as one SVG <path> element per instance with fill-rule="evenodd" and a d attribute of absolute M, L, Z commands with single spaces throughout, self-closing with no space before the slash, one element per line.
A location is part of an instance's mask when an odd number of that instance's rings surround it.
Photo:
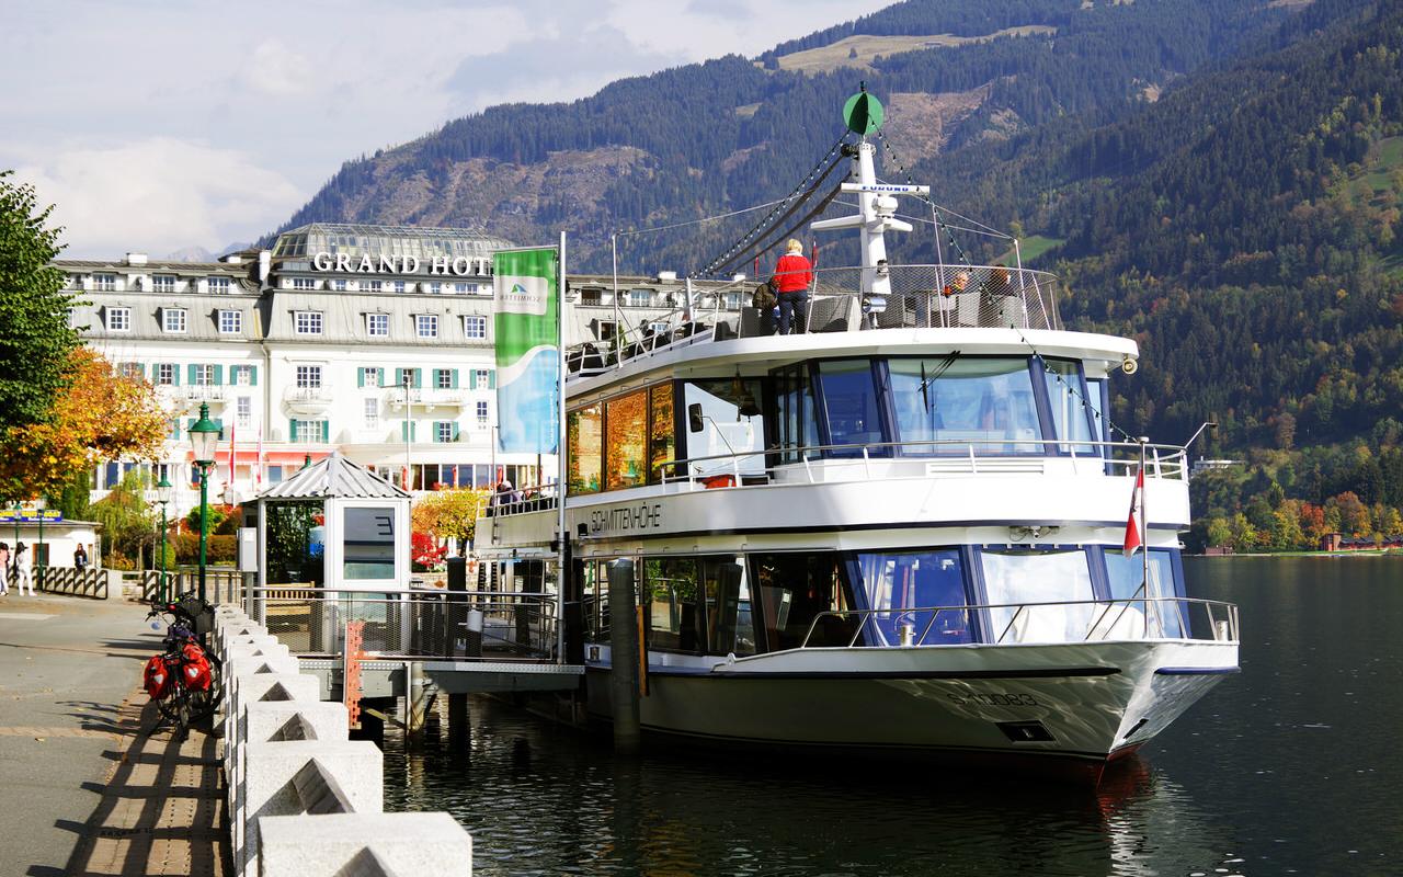
<path fill-rule="evenodd" d="M 752 554 L 751 563 L 762 651 L 798 648 L 805 637 L 810 647 L 853 643 L 859 619 L 835 553 Z M 853 644 L 861 643 L 859 636 Z"/>

